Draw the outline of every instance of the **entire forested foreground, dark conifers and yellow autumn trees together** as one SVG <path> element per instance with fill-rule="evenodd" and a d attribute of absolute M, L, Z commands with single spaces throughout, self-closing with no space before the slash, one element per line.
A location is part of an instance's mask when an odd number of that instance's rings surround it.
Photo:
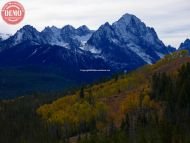
<path fill-rule="evenodd" d="M 188 143 L 190 57 L 57 95 L 0 101 L 1 143 Z"/>

